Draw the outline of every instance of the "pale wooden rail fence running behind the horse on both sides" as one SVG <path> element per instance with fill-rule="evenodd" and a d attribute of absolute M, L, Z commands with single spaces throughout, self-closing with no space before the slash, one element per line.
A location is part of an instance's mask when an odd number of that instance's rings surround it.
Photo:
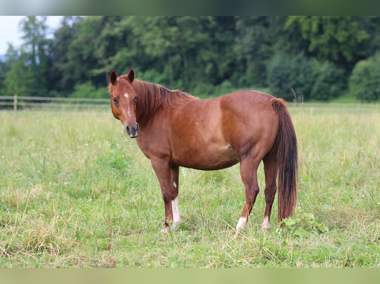
<path fill-rule="evenodd" d="M 288 102 L 291 110 L 305 111 L 336 111 L 336 112 L 380 112 L 379 103 L 292 103 Z M 0 109 L 8 108 L 17 112 L 21 109 L 39 107 L 66 108 L 109 108 L 110 99 L 107 98 L 70 98 L 45 96 L 0 96 Z"/>

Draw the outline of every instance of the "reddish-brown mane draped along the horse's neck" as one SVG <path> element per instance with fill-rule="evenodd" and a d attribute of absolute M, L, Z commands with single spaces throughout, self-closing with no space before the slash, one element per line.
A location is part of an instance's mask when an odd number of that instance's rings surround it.
<path fill-rule="evenodd" d="M 198 99 L 182 90 L 169 90 L 159 84 L 134 80 L 132 87 L 137 95 L 136 121 L 146 122 L 159 109 L 168 109 Z"/>

